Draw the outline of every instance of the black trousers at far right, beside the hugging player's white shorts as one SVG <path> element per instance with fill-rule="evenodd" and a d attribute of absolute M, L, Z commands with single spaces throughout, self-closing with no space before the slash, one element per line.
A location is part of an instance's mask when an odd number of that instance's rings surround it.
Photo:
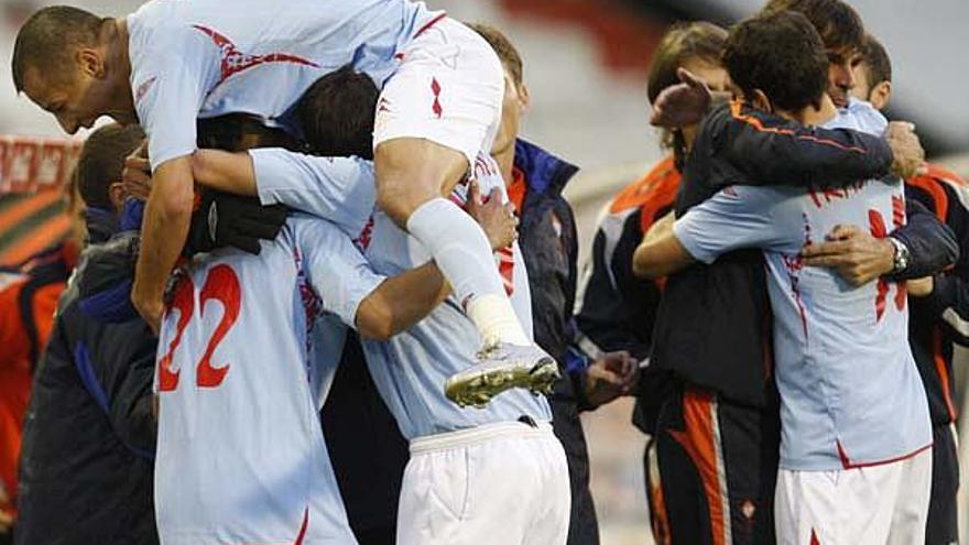
<path fill-rule="evenodd" d="M 932 495 L 928 502 L 928 523 L 925 527 L 927 545 L 949 545 L 959 541 L 959 511 L 956 494 L 959 491 L 959 458 L 956 451 L 956 430 L 952 425 L 933 428 Z"/>

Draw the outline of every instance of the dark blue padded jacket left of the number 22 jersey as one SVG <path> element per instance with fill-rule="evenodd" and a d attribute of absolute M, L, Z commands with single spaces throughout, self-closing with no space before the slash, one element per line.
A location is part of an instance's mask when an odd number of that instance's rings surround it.
<path fill-rule="evenodd" d="M 18 544 L 157 543 L 157 339 L 130 303 L 138 241 L 89 247 L 61 298 L 24 423 Z"/>

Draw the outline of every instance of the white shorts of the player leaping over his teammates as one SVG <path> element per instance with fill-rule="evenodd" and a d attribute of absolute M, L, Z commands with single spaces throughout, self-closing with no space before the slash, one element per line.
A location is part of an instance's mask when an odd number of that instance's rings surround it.
<path fill-rule="evenodd" d="M 498 55 L 464 24 L 443 18 L 398 54 L 400 67 L 377 101 L 374 149 L 400 138 L 461 152 L 469 165 L 491 152 L 501 123 L 504 70 Z"/>

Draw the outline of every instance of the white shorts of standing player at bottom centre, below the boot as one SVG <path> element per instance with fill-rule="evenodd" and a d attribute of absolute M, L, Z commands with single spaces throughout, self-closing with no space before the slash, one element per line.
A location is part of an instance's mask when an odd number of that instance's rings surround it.
<path fill-rule="evenodd" d="M 411 442 L 398 545 L 564 545 L 571 495 L 552 426 L 502 423 Z"/>

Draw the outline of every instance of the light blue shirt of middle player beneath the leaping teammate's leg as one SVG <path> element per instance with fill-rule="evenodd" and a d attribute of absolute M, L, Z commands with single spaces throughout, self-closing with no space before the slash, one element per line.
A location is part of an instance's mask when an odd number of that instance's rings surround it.
<path fill-rule="evenodd" d="M 327 217 L 363 252 L 383 276 L 400 274 L 431 261 L 423 244 L 375 210 L 372 164 L 353 157 L 317 157 L 284 150 L 251 150 L 257 186 L 264 203 Z M 498 166 L 490 156 L 478 161 L 481 194 L 504 190 Z M 461 189 L 454 199 L 461 200 Z M 497 265 L 496 265 L 497 266 Z M 513 250 L 510 299 L 525 331 L 532 331 L 532 303 L 527 272 L 518 244 Z M 347 280 L 347 286 L 352 281 Z M 353 301 L 355 297 L 348 297 Z M 350 316 L 347 324 L 352 326 Z M 544 397 L 513 390 L 494 397 L 484 408 L 460 408 L 444 395 L 447 379 L 476 363 L 482 340 L 475 324 L 450 296 L 426 318 L 386 342 L 363 341 L 370 374 L 404 437 L 454 432 L 483 424 L 515 422 L 529 416 L 548 422 L 552 412 Z"/>

